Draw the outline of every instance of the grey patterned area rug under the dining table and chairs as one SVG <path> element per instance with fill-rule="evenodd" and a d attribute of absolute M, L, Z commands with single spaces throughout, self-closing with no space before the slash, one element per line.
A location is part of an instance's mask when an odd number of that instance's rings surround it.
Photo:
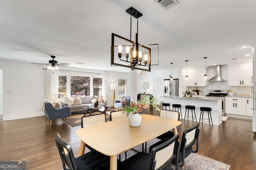
<path fill-rule="evenodd" d="M 152 139 L 147 142 L 147 152 L 149 147 L 159 141 L 159 139 Z M 138 145 L 134 148 L 134 150 L 137 150 L 139 152 L 142 151 L 142 145 Z M 130 156 L 136 154 L 137 152 L 134 150 L 128 150 L 127 151 L 127 158 Z M 119 158 L 119 156 L 118 156 Z M 121 161 L 125 160 L 125 154 L 121 154 Z M 202 156 L 197 153 L 191 153 L 188 157 L 185 158 L 185 165 L 184 170 L 228 170 L 230 168 L 230 165 L 224 164 L 222 162 L 219 162 L 217 160 L 208 158 L 206 156 Z M 175 165 L 170 165 L 170 170 L 175 169 Z M 179 168 L 179 170 L 182 170 L 182 168 Z"/>

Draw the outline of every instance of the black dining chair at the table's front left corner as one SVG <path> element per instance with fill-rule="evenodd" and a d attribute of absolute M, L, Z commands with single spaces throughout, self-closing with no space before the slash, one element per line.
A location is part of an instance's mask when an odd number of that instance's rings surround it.
<path fill-rule="evenodd" d="M 55 133 L 54 141 L 59 151 L 64 170 L 109 170 L 110 156 L 92 150 L 75 158 L 72 148 L 68 143 L 60 139 L 59 133 Z"/>

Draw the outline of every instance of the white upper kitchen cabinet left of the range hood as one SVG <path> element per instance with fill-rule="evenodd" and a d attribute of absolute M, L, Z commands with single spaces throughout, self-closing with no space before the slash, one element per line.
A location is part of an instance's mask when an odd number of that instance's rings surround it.
<path fill-rule="evenodd" d="M 186 80 L 186 86 L 206 86 L 204 74 L 204 68 L 188 69 L 188 80 Z"/>

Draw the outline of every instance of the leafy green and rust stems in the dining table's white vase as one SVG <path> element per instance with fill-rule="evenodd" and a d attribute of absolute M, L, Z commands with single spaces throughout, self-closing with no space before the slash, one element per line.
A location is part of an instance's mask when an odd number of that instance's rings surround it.
<path fill-rule="evenodd" d="M 141 93 L 140 95 L 140 100 L 135 103 L 135 102 L 131 102 L 130 106 L 124 106 L 121 108 L 122 111 L 124 111 L 124 113 L 139 113 L 142 111 L 142 108 L 144 109 L 148 109 L 149 106 L 153 106 L 156 108 L 156 110 L 160 111 L 160 109 L 158 108 L 158 106 L 155 104 L 156 102 L 156 98 L 144 95 Z M 123 104 L 125 104 L 125 102 L 122 102 Z M 160 105 L 160 104 L 159 104 Z"/>

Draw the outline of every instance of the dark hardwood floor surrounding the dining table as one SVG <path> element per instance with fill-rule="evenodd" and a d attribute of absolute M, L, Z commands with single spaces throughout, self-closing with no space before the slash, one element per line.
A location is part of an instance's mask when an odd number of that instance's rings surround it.
<path fill-rule="evenodd" d="M 145 114 L 158 115 L 153 108 Z M 46 117 L 31 117 L 11 121 L 0 121 L 0 161 L 26 161 L 27 170 L 60 170 L 62 163 L 54 143 L 54 134 L 69 143 L 78 156 L 80 139 L 62 119 L 45 123 Z M 184 129 L 195 121 L 181 120 L 180 139 Z M 221 125 L 200 123 L 198 154 L 230 165 L 230 170 L 256 170 L 256 133 L 252 132 L 252 120 L 229 117 Z M 185 163 L 186 164 L 186 163 Z"/>

